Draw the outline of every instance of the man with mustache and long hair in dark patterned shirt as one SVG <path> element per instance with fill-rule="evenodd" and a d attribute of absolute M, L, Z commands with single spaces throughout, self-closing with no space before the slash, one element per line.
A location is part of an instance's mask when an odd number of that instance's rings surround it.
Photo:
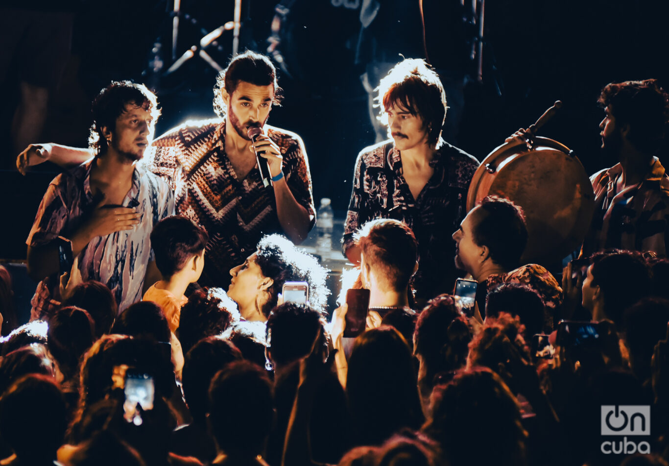
<path fill-rule="evenodd" d="M 423 60 L 407 59 L 381 80 L 382 123 L 392 139 L 359 153 L 343 250 L 359 263 L 353 234 L 375 218 L 407 224 L 418 242 L 413 277 L 418 301 L 451 293 L 456 277 L 450 232 L 466 214 L 467 191 L 478 161 L 441 138 L 446 94 Z"/>

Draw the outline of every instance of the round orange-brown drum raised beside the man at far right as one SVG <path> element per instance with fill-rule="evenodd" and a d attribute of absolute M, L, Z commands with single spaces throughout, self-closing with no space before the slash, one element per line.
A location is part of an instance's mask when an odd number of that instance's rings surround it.
<path fill-rule="evenodd" d="M 535 137 L 532 149 L 512 141 L 494 149 L 474 173 L 468 211 L 492 195 L 522 207 L 528 230 L 522 264 L 557 264 L 585 238 L 595 196 L 581 161 L 569 152 L 545 137 Z"/>

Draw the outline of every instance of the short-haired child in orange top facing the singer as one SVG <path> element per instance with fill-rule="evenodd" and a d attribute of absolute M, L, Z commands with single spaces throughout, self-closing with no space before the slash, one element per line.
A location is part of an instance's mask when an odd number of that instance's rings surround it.
<path fill-rule="evenodd" d="M 202 274 L 207 241 L 203 228 L 181 216 L 161 220 L 151 232 L 156 266 L 163 279 L 151 285 L 142 301 L 153 301 L 163 309 L 172 332 L 179 328 L 181 306 L 188 302 L 186 288 Z"/>

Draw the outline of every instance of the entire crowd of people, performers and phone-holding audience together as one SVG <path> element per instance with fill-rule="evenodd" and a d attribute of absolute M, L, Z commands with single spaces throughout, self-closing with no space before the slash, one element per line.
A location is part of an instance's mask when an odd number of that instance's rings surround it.
<path fill-rule="evenodd" d="M 479 163 L 441 138 L 437 74 L 403 60 L 377 91 L 391 139 L 357 158 L 337 309 L 296 246 L 311 179 L 300 137 L 266 124 L 268 58 L 221 72 L 221 119 L 153 141 L 156 96 L 112 82 L 89 149 L 27 147 L 22 171 L 66 171 L 27 239 L 29 323 L 0 268 L 0 464 L 667 465 L 666 92 L 602 91 L 617 163 L 560 282 L 523 263 L 522 206 L 467 211 Z"/>

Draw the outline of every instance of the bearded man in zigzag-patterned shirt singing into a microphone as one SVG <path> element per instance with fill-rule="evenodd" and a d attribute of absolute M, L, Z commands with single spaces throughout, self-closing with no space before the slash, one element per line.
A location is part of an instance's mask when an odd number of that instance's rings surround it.
<path fill-rule="evenodd" d="M 316 222 L 302 139 L 266 125 L 280 92 L 276 70 L 266 56 L 237 55 L 214 86 L 214 110 L 222 118 L 172 129 L 154 141 L 147 155 L 149 170 L 175 190 L 177 213 L 209 234 L 201 285 L 227 288 L 229 270 L 256 250 L 264 234 L 282 233 L 299 243 Z M 249 127 L 266 134 L 254 142 Z M 256 151 L 261 163 L 268 163 L 269 187 L 258 173 Z M 58 145 L 30 146 L 17 165 L 21 169 L 39 163 L 40 157 L 59 165 L 81 163 L 86 155 Z"/>

